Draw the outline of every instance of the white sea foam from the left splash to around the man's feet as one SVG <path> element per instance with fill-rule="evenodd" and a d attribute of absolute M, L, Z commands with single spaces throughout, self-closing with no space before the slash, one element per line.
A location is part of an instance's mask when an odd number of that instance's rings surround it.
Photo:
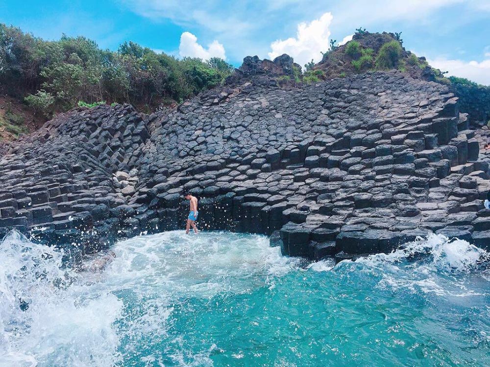
<path fill-rule="evenodd" d="M 145 335 L 165 337 L 178 298 L 246 293 L 294 269 L 297 260 L 268 242 L 218 232 L 139 236 L 117 244 L 114 261 L 93 275 L 62 269 L 62 252 L 13 232 L 0 245 L 0 366 L 123 363 L 122 338 L 138 348 Z M 127 312 L 131 299 L 143 312 Z M 190 365 L 209 365 L 209 353 Z M 182 358 L 175 363 L 185 366 Z"/>

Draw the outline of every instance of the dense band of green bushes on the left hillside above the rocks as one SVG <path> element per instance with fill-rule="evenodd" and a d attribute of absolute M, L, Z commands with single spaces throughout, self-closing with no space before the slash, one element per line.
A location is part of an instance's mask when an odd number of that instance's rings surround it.
<path fill-rule="evenodd" d="M 213 88 L 233 72 L 219 58 L 177 59 L 133 42 L 118 51 L 100 49 L 85 37 L 63 35 L 45 41 L 0 24 L 0 92 L 25 101 L 46 115 L 78 101 L 157 106 Z"/>

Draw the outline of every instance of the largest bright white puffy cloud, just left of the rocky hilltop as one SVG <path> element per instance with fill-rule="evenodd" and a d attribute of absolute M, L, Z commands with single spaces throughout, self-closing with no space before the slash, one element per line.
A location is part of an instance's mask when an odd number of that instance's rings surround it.
<path fill-rule="evenodd" d="M 269 52 L 269 57 L 274 59 L 287 53 L 301 66 L 312 59 L 319 62 L 322 57 L 321 51 L 326 51 L 329 47 L 332 19 L 332 14 L 328 12 L 311 23 L 299 23 L 296 38 L 277 40 L 270 44 L 272 51 Z"/>

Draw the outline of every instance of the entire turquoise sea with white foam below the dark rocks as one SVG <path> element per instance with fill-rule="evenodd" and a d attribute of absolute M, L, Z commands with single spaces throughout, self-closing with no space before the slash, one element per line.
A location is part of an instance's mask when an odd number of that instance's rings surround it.
<path fill-rule="evenodd" d="M 490 364 L 487 253 L 465 241 L 432 235 L 335 267 L 226 232 L 113 251 L 105 270 L 72 273 L 58 252 L 3 241 L 0 366 Z"/>

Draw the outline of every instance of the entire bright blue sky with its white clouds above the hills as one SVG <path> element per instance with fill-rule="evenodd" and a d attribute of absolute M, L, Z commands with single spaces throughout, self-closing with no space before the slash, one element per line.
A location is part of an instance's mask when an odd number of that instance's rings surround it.
<path fill-rule="evenodd" d="M 401 31 L 431 65 L 490 85 L 490 0 L 0 0 L 0 22 L 45 39 L 84 35 L 110 49 L 131 40 L 235 66 L 283 52 L 319 61 L 331 38 L 359 26 Z"/>

